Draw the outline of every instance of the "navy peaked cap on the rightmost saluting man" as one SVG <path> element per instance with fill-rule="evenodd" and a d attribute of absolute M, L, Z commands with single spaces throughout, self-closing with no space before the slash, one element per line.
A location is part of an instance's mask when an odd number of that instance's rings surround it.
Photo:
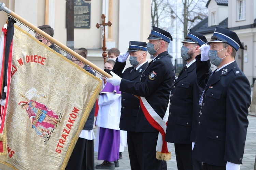
<path fill-rule="evenodd" d="M 240 39 L 237 36 L 237 33 L 221 28 L 221 27 L 216 27 L 213 36 L 211 37 L 211 40 L 207 42 L 209 43 L 227 43 L 230 46 L 232 46 L 236 51 L 241 48 L 244 50 L 244 46 L 242 45 Z"/>

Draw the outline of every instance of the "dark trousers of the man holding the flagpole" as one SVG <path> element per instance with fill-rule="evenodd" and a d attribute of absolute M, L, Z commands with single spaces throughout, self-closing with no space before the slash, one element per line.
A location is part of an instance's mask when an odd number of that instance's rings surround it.
<path fill-rule="evenodd" d="M 166 161 L 156 159 L 159 132 L 142 132 L 144 170 L 167 170 Z"/>

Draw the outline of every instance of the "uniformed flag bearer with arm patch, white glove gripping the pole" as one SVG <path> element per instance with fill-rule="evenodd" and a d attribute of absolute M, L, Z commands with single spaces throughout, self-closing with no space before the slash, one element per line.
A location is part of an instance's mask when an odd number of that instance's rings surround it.
<path fill-rule="evenodd" d="M 147 51 L 154 56 L 154 59 L 142 73 L 141 81 L 121 79 L 114 73 L 113 78 L 107 79 L 113 85 L 120 84 L 120 91 L 144 97 L 161 119 L 166 114 L 170 91 L 175 79 L 174 67 L 167 52 L 171 40 L 172 36 L 169 32 L 153 27 L 148 37 Z M 166 161 L 156 159 L 159 132 L 146 119 L 141 107 L 135 132 L 142 133 L 144 170 L 167 169 Z"/>

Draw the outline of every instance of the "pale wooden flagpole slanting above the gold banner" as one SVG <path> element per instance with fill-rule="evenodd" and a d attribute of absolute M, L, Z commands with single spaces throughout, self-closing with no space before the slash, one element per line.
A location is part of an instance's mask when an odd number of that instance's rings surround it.
<path fill-rule="evenodd" d="M 102 70 L 101 68 L 99 68 L 98 66 L 96 66 L 95 64 L 89 62 L 88 60 L 86 60 L 84 57 L 82 57 L 81 55 L 77 54 L 76 52 L 74 52 L 73 50 L 71 50 L 70 48 L 68 48 L 67 46 L 65 46 L 64 44 L 60 43 L 58 40 L 56 40 L 55 38 L 53 38 L 52 36 L 48 35 L 47 33 L 45 33 L 44 31 L 40 30 L 39 28 L 37 28 L 36 26 L 34 26 L 33 24 L 31 24 L 30 22 L 28 22 L 27 20 L 25 20 L 24 18 L 20 17 L 19 15 L 17 15 L 16 13 L 14 13 L 13 11 L 11 11 L 9 8 L 5 7 L 5 4 L 3 2 L 0 2 L 0 11 L 4 11 L 7 14 L 11 15 L 13 18 L 17 19 L 18 21 L 20 21 L 21 23 L 25 24 L 27 27 L 31 28 L 32 30 L 34 30 L 35 32 L 37 32 L 38 34 L 42 35 L 44 38 L 48 39 L 49 41 L 51 41 L 52 43 L 54 43 L 55 45 L 57 45 L 58 47 L 62 48 L 63 50 L 67 51 L 69 54 L 73 55 L 75 58 L 77 58 L 78 60 L 82 61 L 83 63 L 85 63 L 86 65 L 90 66 L 91 68 L 93 68 L 94 70 L 96 70 L 98 73 L 104 75 L 106 78 L 111 78 L 112 76 L 110 74 L 108 74 L 107 72 L 105 72 L 104 70 Z"/>

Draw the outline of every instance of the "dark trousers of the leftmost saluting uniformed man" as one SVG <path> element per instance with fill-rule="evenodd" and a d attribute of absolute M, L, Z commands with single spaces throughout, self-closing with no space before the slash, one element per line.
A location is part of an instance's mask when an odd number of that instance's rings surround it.
<path fill-rule="evenodd" d="M 141 132 L 127 131 L 127 145 L 131 170 L 143 169 L 143 141 Z"/>

